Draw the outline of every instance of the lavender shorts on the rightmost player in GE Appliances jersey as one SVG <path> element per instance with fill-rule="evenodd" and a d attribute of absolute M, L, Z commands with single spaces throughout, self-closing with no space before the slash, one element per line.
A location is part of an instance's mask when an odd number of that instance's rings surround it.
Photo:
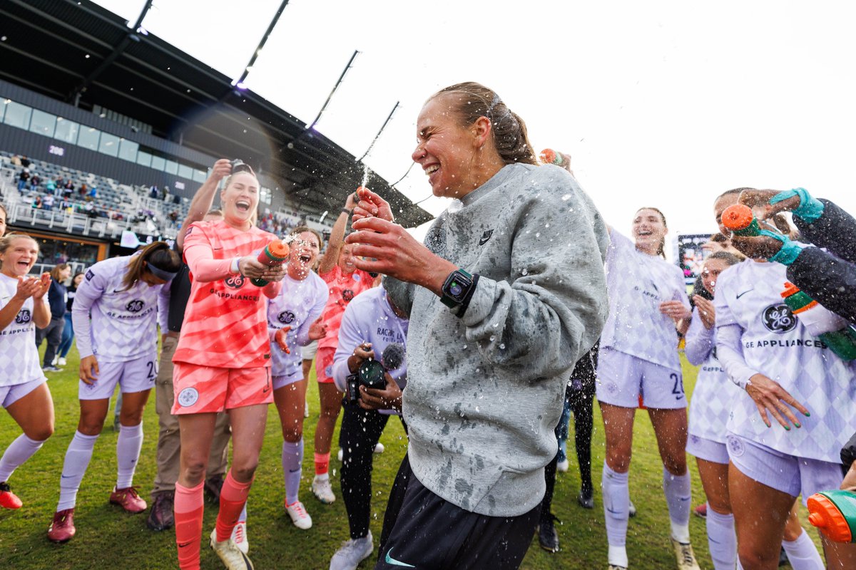
<path fill-rule="evenodd" d="M 740 473 L 791 497 L 802 495 L 803 504 L 817 491 L 838 489 L 844 479 L 840 463 L 788 455 L 734 433 L 726 441 L 728 457 Z"/>

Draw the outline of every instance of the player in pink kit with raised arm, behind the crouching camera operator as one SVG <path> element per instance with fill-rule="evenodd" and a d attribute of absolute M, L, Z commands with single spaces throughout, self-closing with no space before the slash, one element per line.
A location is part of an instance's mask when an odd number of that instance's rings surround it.
<path fill-rule="evenodd" d="M 327 283 L 330 297 L 321 317 L 327 325 L 327 334 L 318 341 L 318 356 L 315 360 L 321 413 L 318 414 L 318 426 L 315 428 L 315 477 L 312 479 L 312 493 L 324 503 L 336 500 L 330 487 L 329 469 L 330 443 L 336 430 L 336 418 L 342 409 L 342 392 L 333 383 L 332 372 L 333 355 L 336 354 L 336 344 L 339 341 L 339 325 L 342 324 L 342 314 L 351 299 L 370 289 L 374 282 L 372 275 L 354 265 L 354 246 L 344 243 L 348 216 L 356 205 L 354 196 L 348 195 L 345 207 L 330 230 L 327 250 L 318 264 L 318 275 Z"/>

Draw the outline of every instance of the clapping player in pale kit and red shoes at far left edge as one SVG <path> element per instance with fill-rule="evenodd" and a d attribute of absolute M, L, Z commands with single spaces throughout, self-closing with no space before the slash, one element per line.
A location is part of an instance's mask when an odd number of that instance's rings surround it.
<path fill-rule="evenodd" d="M 23 431 L 0 458 L 0 508 L 21 508 L 21 500 L 9 490 L 9 477 L 54 428 L 51 391 L 36 350 L 36 326 L 51 322 L 45 295 L 51 278 L 48 273 L 41 279 L 27 276 L 38 256 L 39 244 L 26 234 L 0 238 L 0 404 Z"/>

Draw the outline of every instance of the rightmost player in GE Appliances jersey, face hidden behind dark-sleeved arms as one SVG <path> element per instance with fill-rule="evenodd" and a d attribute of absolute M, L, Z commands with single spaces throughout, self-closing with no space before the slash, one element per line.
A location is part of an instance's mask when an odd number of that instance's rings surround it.
<path fill-rule="evenodd" d="M 736 189 L 716 199 L 722 211 Z M 724 232 L 728 230 L 721 228 Z M 740 564 L 776 567 L 788 513 L 800 495 L 841 485 L 841 447 L 856 432 L 856 362 L 841 361 L 782 300 L 787 267 L 757 259 L 716 283 L 716 356 L 749 397 L 728 416 L 728 493 Z M 806 533 L 788 558 L 823 567 Z M 823 539 L 829 568 L 856 568 L 856 545 Z M 795 564 L 794 564 L 795 567 Z"/>

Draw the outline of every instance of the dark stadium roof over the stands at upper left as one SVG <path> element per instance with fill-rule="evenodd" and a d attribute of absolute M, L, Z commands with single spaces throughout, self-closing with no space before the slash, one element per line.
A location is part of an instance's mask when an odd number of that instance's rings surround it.
<path fill-rule="evenodd" d="M 95 3 L 3 0 L 0 21 L 0 78 L 81 109 L 127 115 L 211 156 L 240 157 L 295 203 L 337 209 L 367 173 L 403 225 L 433 217 L 305 122 Z"/>

